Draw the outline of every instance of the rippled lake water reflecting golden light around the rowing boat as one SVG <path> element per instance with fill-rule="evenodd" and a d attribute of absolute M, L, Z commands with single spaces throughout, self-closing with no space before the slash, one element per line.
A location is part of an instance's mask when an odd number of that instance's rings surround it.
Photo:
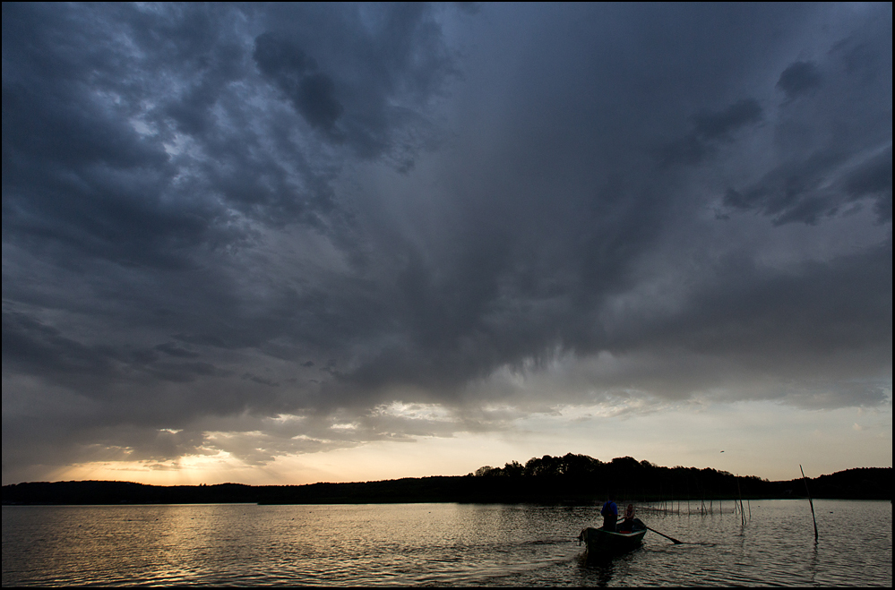
<path fill-rule="evenodd" d="M 4 506 L 3 586 L 892 586 L 891 502 L 647 508 L 686 543 L 594 564 L 593 506 Z"/>

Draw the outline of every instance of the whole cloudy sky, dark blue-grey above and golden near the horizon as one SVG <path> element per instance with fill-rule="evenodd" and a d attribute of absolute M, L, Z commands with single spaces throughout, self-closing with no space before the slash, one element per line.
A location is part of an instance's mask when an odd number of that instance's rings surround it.
<path fill-rule="evenodd" d="M 2 26 L 4 484 L 891 466 L 891 4 Z"/>

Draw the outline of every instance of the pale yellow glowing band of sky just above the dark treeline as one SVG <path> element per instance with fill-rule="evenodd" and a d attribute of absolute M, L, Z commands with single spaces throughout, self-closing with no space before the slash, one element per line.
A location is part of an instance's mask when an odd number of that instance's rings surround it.
<path fill-rule="evenodd" d="M 433 407 L 425 411 L 439 412 Z M 800 464 L 817 476 L 852 466 L 885 465 L 891 455 L 891 408 L 816 410 L 806 415 L 804 410 L 775 402 L 717 406 L 690 401 L 665 405 L 649 415 L 624 415 L 617 406 L 569 406 L 513 422 L 512 428 L 499 435 L 455 432 L 451 437 L 381 440 L 329 452 L 280 455 L 262 466 L 209 448 L 201 455 L 166 462 L 122 460 L 67 466 L 52 479 L 300 485 L 466 475 L 480 466 L 524 464 L 531 457 L 572 452 L 602 461 L 633 456 L 661 466 L 710 467 L 776 481 L 796 478 Z M 210 433 L 210 441 L 225 445 L 222 439 L 235 436 Z M 260 432 L 241 436 L 262 438 Z M 856 461 L 854 449 L 866 449 L 861 461 Z"/>

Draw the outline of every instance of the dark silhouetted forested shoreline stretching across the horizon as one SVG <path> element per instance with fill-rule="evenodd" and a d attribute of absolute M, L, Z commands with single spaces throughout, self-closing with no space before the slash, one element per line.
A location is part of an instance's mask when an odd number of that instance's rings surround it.
<path fill-rule="evenodd" d="M 146 485 L 127 482 L 33 482 L 3 486 L 10 504 L 364 504 L 481 502 L 587 505 L 633 502 L 768 498 L 891 500 L 891 467 L 864 467 L 769 482 L 716 469 L 663 467 L 633 457 L 603 462 L 586 455 L 533 457 L 503 467 L 483 466 L 469 475 L 407 477 L 362 483 L 306 485 Z"/>

